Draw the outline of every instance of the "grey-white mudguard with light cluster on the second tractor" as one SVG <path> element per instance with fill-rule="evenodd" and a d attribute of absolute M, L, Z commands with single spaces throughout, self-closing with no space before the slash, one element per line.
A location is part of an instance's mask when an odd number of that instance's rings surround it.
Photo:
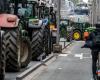
<path fill-rule="evenodd" d="M 29 19 L 29 23 L 28 23 L 28 27 L 29 28 L 41 28 L 41 26 L 43 25 L 43 21 L 42 20 L 38 20 L 38 19 Z"/>

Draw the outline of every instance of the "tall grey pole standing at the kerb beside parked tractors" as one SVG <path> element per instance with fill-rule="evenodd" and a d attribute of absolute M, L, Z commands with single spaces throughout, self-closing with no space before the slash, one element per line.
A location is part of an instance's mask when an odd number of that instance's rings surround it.
<path fill-rule="evenodd" d="M 57 0 L 57 39 L 56 43 L 59 44 L 60 40 L 60 34 L 59 34 L 59 26 L 60 26 L 60 7 L 61 6 L 61 0 Z"/>

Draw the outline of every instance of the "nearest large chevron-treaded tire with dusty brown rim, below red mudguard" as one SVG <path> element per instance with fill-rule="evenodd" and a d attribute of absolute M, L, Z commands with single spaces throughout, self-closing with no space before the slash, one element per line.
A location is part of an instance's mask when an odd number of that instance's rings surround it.
<path fill-rule="evenodd" d="M 27 39 L 22 39 L 18 29 L 9 29 L 6 36 L 6 69 L 7 71 L 20 71 L 31 60 L 31 52 Z"/>

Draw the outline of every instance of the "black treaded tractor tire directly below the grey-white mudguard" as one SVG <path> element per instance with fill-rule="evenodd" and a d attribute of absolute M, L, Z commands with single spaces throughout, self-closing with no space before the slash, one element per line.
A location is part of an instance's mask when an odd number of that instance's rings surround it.
<path fill-rule="evenodd" d="M 44 42 L 43 42 L 44 29 L 36 29 L 32 32 L 32 60 L 39 61 L 40 55 L 44 52 Z"/>

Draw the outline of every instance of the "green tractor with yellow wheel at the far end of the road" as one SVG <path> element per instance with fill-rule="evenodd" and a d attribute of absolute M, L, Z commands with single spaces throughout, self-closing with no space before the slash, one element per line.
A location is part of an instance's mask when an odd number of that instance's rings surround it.
<path fill-rule="evenodd" d="M 71 27 L 71 38 L 73 40 L 83 40 L 83 33 L 86 28 L 90 27 L 89 23 L 78 23 L 78 22 L 70 22 Z"/>

